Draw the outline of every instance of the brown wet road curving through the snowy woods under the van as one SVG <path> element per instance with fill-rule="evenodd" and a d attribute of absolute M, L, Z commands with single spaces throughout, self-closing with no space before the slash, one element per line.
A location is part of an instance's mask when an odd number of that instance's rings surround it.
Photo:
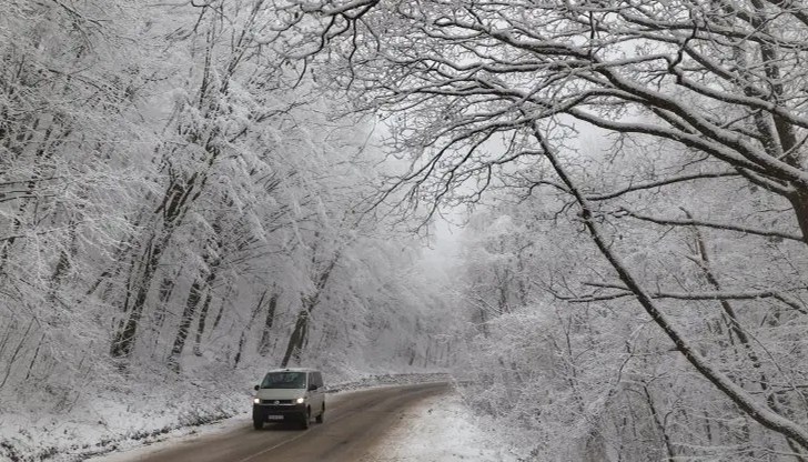
<path fill-rule="evenodd" d="M 444 393 L 443 383 L 388 386 L 327 395 L 325 422 L 312 422 L 309 430 L 296 424 L 267 423 L 253 430 L 248 418 L 243 425 L 210 436 L 120 461 L 148 462 L 356 462 L 371 461 L 368 454 L 385 432 L 400 419 L 401 411 L 420 400 Z"/>

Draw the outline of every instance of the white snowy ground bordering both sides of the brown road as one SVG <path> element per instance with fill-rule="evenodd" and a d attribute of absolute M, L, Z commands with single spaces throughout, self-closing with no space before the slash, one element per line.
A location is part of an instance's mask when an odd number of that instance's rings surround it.
<path fill-rule="evenodd" d="M 450 375 L 434 372 L 357 373 L 341 379 L 332 382 L 335 399 L 353 390 L 374 386 L 451 381 Z M 95 405 L 77 405 L 61 415 L 47 412 L 44 404 L 42 409 L 29 409 L 26 413 L 0 409 L 0 461 L 75 462 L 93 455 L 103 456 L 104 461 L 115 460 L 108 458 L 138 448 L 148 451 L 148 448 L 226 431 L 243 425 L 248 418 L 244 403 L 249 402 L 250 393 L 244 391 L 219 394 L 219 390 L 211 390 L 202 400 L 211 403 L 211 409 L 191 412 L 182 405 L 195 402 L 184 394 L 188 391 L 154 388 L 147 392 L 147 389 L 130 390 L 125 399 L 120 394 L 97 396 L 91 400 Z M 154 404 L 148 405 L 151 402 Z M 481 430 L 477 423 L 457 394 L 425 400 L 404 413 L 382 451 L 368 455 L 365 461 L 515 460 L 497 449 L 502 443 L 489 439 L 489 432 Z"/>

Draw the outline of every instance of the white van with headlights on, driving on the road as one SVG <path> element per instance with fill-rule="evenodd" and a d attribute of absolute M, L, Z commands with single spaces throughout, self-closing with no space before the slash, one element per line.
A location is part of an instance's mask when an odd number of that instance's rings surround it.
<path fill-rule="evenodd" d="M 296 421 L 309 428 L 312 416 L 317 423 L 325 416 L 323 375 L 314 369 L 275 369 L 255 385 L 253 426 L 261 430 L 264 422 Z"/>

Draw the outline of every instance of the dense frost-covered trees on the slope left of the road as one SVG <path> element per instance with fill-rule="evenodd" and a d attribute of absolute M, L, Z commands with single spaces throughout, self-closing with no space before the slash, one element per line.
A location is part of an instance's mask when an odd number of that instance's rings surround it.
<path fill-rule="evenodd" d="M 361 213 L 377 181 L 368 120 L 267 46 L 275 13 L 3 4 L 6 424 L 71 415 L 121 433 L 166 409 L 176 424 L 183 405 L 219 415 L 269 366 L 386 371 L 433 341 L 410 329 L 443 317 L 424 308 L 440 292 L 417 242 Z M 205 405 L 178 400 L 193 390 Z M 30 443 L 17 430 L 0 426 L 0 459 Z"/>

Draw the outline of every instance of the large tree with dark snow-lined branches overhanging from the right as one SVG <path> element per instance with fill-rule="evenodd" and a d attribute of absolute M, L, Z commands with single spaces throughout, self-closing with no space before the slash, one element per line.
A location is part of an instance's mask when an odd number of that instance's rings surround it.
<path fill-rule="evenodd" d="M 749 459 L 802 458 L 805 371 L 787 355 L 804 350 L 808 9 L 281 3 L 296 54 L 326 57 L 331 81 L 388 120 L 391 149 L 412 159 L 380 202 L 433 215 L 485 191 L 562 192 L 559 217 L 608 263 L 582 281 L 589 292 L 562 297 L 639 308 L 725 400 L 704 422 L 737 413 L 755 422 L 744 434 L 780 438 L 744 446 Z M 700 453 L 665 434 L 667 456 Z"/>

